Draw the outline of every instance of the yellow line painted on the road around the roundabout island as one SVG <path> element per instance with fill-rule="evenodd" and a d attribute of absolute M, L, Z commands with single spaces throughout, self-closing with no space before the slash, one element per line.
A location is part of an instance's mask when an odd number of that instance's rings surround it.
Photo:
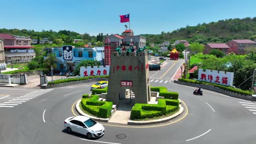
<path fill-rule="evenodd" d="M 77 101 L 78 101 L 78 100 L 77 100 Z M 75 101 L 75 103 L 77 103 L 77 101 Z M 108 126 L 112 126 L 112 127 L 123 127 L 123 128 L 154 128 L 154 127 L 163 127 L 163 126 L 165 126 L 165 125 L 170 125 L 170 124 L 173 124 L 173 123 L 176 123 L 176 122 L 181 121 L 183 118 L 185 118 L 185 117 L 188 115 L 188 107 L 187 107 L 187 105 L 184 103 L 183 100 L 181 100 L 181 101 L 182 101 L 182 103 L 185 105 L 185 109 L 186 109 L 187 112 L 186 112 L 185 116 L 183 116 L 182 118 L 178 119 L 177 121 L 174 121 L 174 122 L 171 122 L 171 123 L 162 124 L 162 125 L 154 125 L 154 126 L 145 126 L 145 127 L 134 127 L 134 126 L 123 126 L 123 125 L 112 125 L 112 124 L 102 124 L 102 125 L 108 125 Z M 75 103 L 74 103 L 74 104 L 75 104 Z M 73 111 L 73 106 L 74 106 L 74 104 L 72 105 L 71 110 L 72 110 L 73 114 L 75 115 L 75 113 L 74 113 L 74 111 Z M 77 115 L 75 115 L 75 116 L 77 116 Z"/>

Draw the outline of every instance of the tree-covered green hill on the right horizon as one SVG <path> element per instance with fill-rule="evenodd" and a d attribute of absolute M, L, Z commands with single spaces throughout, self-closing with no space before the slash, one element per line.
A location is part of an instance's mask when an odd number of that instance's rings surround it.
<path fill-rule="evenodd" d="M 161 34 L 141 34 L 147 38 L 147 44 L 160 44 L 163 41 L 186 39 L 189 43 L 226 43 L 231 39 L 256 39 L 256 17 L 245 19 L 226 19 L 218 22 L 187 26 Z"/>

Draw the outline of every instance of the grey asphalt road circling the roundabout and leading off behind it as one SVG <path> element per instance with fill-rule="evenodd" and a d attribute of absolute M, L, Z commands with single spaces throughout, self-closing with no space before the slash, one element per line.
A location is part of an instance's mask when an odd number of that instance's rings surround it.
<path fill-rule="evenodd" d="M 179 92 L 183 107 L 188 110 L 161 124 L 102 123 L 105 135 L 92 141 L 83 135 L 66 133 L 63 121 L 74 116 L 73 104 L 82 94 L 90 93 L 94 82 L 46 90 L 0 87 L 0 106 L 14 104 L 0 107 L 0 143 L 256 143 L 256 111 L 251 111 L 256 110 L 255 101 L 205 89 L 203 96 L 193 95 L 194 87 L 170 82 L 180 64 L 181 61 L 167 60 L 160 71 L 149 71 L 150 85 Z M 15 102 L 19 98 L 25 102 Z"/>

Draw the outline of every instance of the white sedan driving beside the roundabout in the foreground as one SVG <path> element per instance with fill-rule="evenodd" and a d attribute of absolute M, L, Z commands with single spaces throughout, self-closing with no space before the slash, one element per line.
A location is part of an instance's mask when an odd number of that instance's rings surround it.
<path fill-rule="evenodd" d="M 105 133 L 102 124 L 85 116 L 69 117 L 65 119 L 64 128 L 67 129 L 68 133 L 74 131 L 75 133 L 86 135 L 89 139 L 92 137 L 100 137 Z"/>

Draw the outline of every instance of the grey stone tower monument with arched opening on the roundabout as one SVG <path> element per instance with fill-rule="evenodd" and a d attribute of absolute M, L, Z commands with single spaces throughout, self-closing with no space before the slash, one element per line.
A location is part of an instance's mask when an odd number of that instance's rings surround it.
<path fill-rule="evenodd" d="M 112 52 L 109 68 L 107 101 L 119 106 L 121 95 L 126 89 L 135 94 L 135 103 L 150 101 L 148 53 Z"/>

